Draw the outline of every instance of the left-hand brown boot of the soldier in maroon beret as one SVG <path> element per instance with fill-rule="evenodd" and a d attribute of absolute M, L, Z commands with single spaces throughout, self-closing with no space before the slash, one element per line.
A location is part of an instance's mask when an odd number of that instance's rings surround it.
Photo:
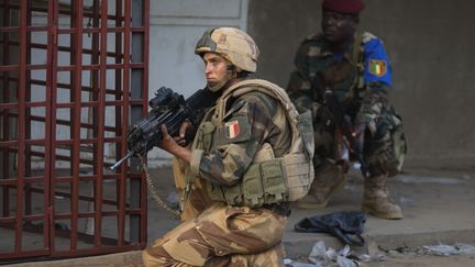
<path fill-rule="evenodd" d="M 325 208 L 330 198 L 343 189 L 344 183 L 345 176 L 342 166 L 327 160 L 316 169 L 309 193 L 297 201 L 296 207 L 307 210 Z"/>

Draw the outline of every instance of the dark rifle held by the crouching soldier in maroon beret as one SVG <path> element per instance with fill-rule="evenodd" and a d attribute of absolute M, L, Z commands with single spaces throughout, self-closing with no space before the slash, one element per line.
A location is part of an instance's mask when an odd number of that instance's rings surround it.
<path fill-rule="evenodd" d="M 343 135 L 346 137 L 346 146 L 350 152 L 352 152 L 360 163 L 360 169 L 363 176 L 367 177 L 368 170 L 366 160 L 363 156 L 363 142 L 364 140 L 356 140 L 353 123 L 345 115 L 343 108 L 340 104 L 336 96 L 333 93 L 331 88 L 325 85 L 324 77 L 321 73 L 316 76 L 313 82 L 313 89 L 317 90 L 320 99 L 322 99 L 322 104 L 328 109 L 328 111 L 333 115 L 335 125 L 342 131 Z"/>

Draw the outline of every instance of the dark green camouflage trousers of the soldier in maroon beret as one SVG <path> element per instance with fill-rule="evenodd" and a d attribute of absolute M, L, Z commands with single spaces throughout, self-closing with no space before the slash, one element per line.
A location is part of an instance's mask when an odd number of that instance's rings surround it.
<path fill-rule="evenodd" d="M 396 175 L 400 170 L 406 154 L 406 137 L 402 122 L 394 110 L 383 110 L 375 121 L 373 131 L 366 131 L 364 141 L 364 158 L 371 176 Z M 317 169 L 330 159 L 341 158 L 344 147 L 336 126 L 320 121 L 313 124 L 316 153 L 313 166 Z M 351 159 L 351 157 L 350 157 Z"/>

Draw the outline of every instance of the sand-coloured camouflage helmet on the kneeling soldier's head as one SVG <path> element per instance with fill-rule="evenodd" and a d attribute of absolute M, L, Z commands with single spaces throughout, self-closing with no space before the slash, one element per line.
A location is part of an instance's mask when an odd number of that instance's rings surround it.
<path fill-rule="evenodd" d="M 202 56 L 214 52 L 231 62 L 235 67 L 250 73 L 257 68 L 258 48 L 254 40 L 235 27 L 214 27 L 205 32 L 198 41 L 195 53 Z"/>

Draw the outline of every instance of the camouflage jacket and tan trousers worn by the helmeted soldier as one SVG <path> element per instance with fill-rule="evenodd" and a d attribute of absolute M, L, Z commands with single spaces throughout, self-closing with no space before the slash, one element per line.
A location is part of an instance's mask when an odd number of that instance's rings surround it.
<path fill-rule="evenodd" d="M 213 122 L 216 115 L 211 109 L 195 137 L 190 171 L 207 187 L 241 182 L 264 144 L 270 145 L 275 157 L 286 154 L 291 144 L 285 109 L 276 99 L 251 91 L 230 101 L 223 121 Z M 280 241 L 287 208 L 286 203 L 250 208 L 213 201 L 197 218 L 148 246 L 143 253 L 144 263 L 151 266 L 283 266 Z"/>

